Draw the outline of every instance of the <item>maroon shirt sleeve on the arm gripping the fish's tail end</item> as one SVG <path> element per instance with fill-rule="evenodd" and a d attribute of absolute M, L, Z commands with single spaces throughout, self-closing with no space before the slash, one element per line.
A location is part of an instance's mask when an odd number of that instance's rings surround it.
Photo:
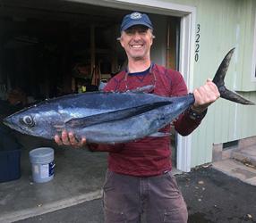
<path fill-rule="evenodd" d="M 188 94 L 188 89 L 186 87 L 186 84 L 184 82 L 183 76 L 181 73 L 174 71 L 172 74 L 172 90 L 171 90 L 171 95 L 172 96 L 182 96 L 182 95 L 187 95 Z M 205 117 L 206 115 L 205 111 L 203 115 L 201 115 L 201 118 L 197 119 L 192 119 L 190 117 L 190 112 L 189 108 L 184 111 L 177 120 L 173 122 L 175 126 L 175 130 L 182 136 L 188 136 L 189 134 L 192 133 L 192 131 L 197 128 L 201 120 Z"/>

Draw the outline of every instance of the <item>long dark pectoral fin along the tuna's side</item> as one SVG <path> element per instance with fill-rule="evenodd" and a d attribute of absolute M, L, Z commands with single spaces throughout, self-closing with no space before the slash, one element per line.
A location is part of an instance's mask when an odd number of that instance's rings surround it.
<path fill-rule="evenodd" d="M 141 106 L 136 106 L 128 109 L 118 110 L 118 111 L 108 111 L 105 113 L 90 115 L 82 118 L 75 118 L 65 122 L 67 128 L 78 128 L 78 127 L 88 127 L 102 122 L 114 121 L 114 120 L 124 120 L 135 115 L 139 115 L 146 111 L 151 111 L 153 109 L 159 108 L 161 106 L 171 104 L 172 102 L 156 102 L 147 103 Z"/>

